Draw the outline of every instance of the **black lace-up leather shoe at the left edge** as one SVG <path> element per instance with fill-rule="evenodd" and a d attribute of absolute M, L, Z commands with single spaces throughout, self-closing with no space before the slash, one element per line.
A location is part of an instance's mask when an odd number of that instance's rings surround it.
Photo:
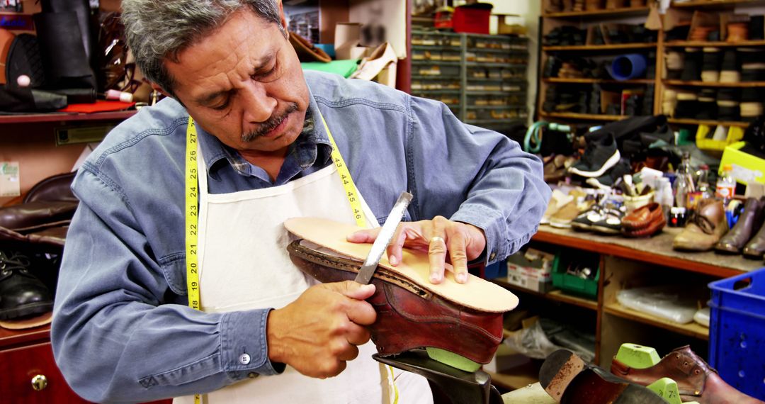
<path fill-rule="evenodd" d="M 29 272 L 29 259 L 0 250 L 0 320 L 44 314 L 53 309 L 53 295 Z"/>

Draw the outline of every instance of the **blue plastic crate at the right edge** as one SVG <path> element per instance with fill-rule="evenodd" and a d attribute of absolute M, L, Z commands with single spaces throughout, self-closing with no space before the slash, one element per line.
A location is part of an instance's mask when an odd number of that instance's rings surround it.
<path fill-rule="evenodd" d="M 731 386 L 765 399 L 765 268 L 709 288 L 709 364 Z"/>

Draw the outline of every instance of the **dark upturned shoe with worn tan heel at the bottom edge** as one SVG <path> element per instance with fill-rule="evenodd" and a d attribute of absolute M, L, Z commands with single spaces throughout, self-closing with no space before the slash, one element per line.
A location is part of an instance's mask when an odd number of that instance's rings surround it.
<path fill-rule="evenodd" d="M 566 404 L 666 404 L 648 388 L 584 363 L 569 350 L 556 350 L 545 359 L 539 384 L 556 402 Z"/>

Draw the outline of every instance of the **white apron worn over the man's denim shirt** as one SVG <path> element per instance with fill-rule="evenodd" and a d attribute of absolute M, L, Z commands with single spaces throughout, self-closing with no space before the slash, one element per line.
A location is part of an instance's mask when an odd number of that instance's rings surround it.
<path fill-rule="evenodd" d="M 204 158 L 198 171 L 207 178 Z M 356 223 L 350 202 L 330 165 L 278 187 L 209 194 L 199 181 L 200 218 L 198 257 L 201 309 L 208 312 L 282 308 L 317 282 L 289 259 L 286 246 L 293 238 L 282 223 L 290 217 L 323 217 Z M 363 197 L 367 222 L 377 225 Z M 388 403 L 396 397 L 389 367 L 372 359 L 370 341 L 359 347 L 356 360 L 335 377 L 320 380 L 303 376 L 292 367 L 275 376 L 243 380 L 202 396 L 203 403 Z M 399 403 L 432 402 L 422 376 L 394 370 Z M 176 403 L 194 403 L 194 396 Z"/>

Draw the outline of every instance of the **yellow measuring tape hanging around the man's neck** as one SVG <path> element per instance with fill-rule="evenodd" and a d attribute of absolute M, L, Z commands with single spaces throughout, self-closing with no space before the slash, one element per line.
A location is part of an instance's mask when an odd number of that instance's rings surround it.
<path fill-rule="evenodd" d="M 337 148 L 332 133 L 330 132 L 324 116 L 321 116 L 321 123 L 327 130 L 327 137 L 332 145 L 332 161 L 337 167 L 337 173 L 340 174 L 340 180 L 343 181 L 343 188 L 353 210 L 353 218 L 356 225 L 366 227 L 366 217 L 361 207 L 361 199 L 350 177 L 348 166 L 345 165 L 343 156 L 340 155 L 340 149 Z M 199 298 L 199 259 L 197 256 L 197 234 L 199 231 L 199 176 L 205 173 L 197 172 L 197 128 L 194 126 L 194 119 L 189 116 L 188 126 L 186 128 L 186 288 L 189 295 L 189 307 L 200 310 Z M 203 178 L 203 181 L 207 181 Z M 391 380 L 393 380 L 393 368 L 388 366 Z M 393 404 L 399 402 L 399 388 L 393 383 L 394 396 Z M 194 395 L 194 404 L 200 404 L 200 395 Z"/>

